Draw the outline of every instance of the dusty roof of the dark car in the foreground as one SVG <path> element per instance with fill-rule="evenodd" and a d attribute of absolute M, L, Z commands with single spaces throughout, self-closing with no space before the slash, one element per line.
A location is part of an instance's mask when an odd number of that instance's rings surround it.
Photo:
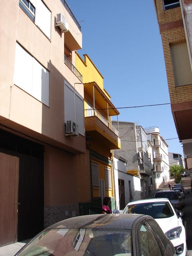
<path fill-rule="evenodd" d="M 120 228 L 130 230 L 135 220 L 146 217 L 148 216 L 143 214 L 92 214 L 68 218 L 48 228 Z"/>

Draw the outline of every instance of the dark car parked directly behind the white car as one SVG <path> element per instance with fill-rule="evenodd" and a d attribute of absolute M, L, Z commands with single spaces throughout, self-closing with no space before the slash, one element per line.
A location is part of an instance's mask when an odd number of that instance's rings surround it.
<path fill-rule="evenodd" d="M 174 190 L 158 190 L 155 192 L 154 198 L 168 198 L 177 210 L 182 210 L 182 197 L 178 196 Z"/>

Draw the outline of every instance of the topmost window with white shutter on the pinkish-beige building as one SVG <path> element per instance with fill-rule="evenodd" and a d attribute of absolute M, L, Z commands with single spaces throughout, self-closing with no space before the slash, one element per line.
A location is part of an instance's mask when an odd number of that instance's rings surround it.
<path fill-rule="evenodd" d="M 32 4 L 33 3 L 33 4 Z M 42 32 L 51 38 L 51 12 L 42 0 L 19 0 L 19 6 Z"/>

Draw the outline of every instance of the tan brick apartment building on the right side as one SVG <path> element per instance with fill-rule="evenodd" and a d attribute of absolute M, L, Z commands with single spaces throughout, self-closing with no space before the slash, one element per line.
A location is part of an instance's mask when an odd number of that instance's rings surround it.
<path fill-rule="evenodd" d="M 192 170 L 192 1 L 154 0 L 178 138 Z"/>

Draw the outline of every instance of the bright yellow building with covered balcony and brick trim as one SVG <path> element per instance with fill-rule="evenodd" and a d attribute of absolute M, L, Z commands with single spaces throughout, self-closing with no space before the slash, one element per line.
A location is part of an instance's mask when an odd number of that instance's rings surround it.
<path fill-rule="evenodd" d="M 80 214 L 88 214 L 90 207 L 102 207 L 105 196 L 111 198 L 110 207 L 116 209 L 112 150 L 120 149 L 120 138 L 111 118 L 120 113 L 104 89 L 102 74 L 88 54 L 81 58 L 76 52 L 75 59 L 84 83 L 86 136 L 86 155 L 78 157 L 81 166 L 78 168 L 78 198 Z"/>

